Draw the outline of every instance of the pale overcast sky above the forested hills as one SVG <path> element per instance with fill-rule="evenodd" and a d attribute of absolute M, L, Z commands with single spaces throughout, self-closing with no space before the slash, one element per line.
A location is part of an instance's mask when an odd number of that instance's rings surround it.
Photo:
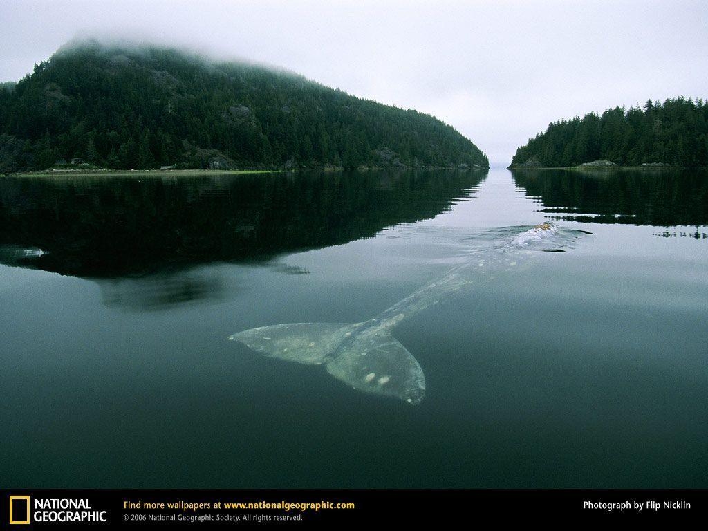
<path fill-rule="evenodd" d="M 77 35 L 188 45 L 453 125 L 508 164 L 548 123 L 708 98 L 697 1 L 0 0 L 0 81 Z"/>

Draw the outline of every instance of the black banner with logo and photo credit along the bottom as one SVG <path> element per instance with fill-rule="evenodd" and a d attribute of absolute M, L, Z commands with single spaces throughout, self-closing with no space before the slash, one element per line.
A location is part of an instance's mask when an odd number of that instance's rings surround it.
<path fill-rule="evenodd" d="M 706 516 L 707 490 L 3 491 L 1 528 L 402 525 L 527 515 L 566 522 Z"/>

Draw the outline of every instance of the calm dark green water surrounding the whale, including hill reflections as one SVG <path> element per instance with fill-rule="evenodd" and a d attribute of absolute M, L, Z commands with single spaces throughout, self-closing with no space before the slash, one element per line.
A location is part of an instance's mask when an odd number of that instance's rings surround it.
<path fill-rule="evenodd" d="M 1 178 L 0 486 L 705 488 L 707 190 L 666 172 Z M 369 319 L 476 235 L 547 219 L 592 234 L 396 326 L 418 406 L 227 341 Z"/>

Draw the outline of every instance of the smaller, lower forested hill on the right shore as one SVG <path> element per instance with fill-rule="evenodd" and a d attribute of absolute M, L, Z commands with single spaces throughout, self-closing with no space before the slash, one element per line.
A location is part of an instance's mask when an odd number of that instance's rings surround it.
<path fill-rule="evenodd" d="M 577 166 L 596 160 L 622 166 L 708 166 L 708 103 L 647 101 L 561 120 L 517 149 L 512 166 Z"/>

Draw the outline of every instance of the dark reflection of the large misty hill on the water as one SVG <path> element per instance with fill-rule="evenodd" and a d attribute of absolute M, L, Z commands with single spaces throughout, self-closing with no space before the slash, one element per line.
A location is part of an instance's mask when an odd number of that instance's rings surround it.
<path fill-rule="evenodd" d="M 428 219 L 484 172 L 0 179 L 0 262 L 93 278 L 261 261 Z"/>

